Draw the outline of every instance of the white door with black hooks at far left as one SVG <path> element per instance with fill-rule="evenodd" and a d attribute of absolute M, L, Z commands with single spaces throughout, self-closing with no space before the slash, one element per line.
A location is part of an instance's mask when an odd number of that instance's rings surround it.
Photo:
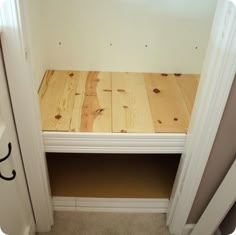
<path fill-rule="evenodd" d="M 0 48 L 0 50 L 2 49 Z M 31 233 L 31 230 L 34 230 L 33 212 L 28 195 L 1 53 L 0 227 L 4 233 L 9 235 L 26 235 Z"/>

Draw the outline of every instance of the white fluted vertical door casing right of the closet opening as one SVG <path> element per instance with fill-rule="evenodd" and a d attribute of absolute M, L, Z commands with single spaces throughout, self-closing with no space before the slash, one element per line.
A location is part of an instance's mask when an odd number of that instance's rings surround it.
<path fill-rule="evenodd" d="M 167 225 L 182 234 L 210 155 L 236 72 L 235 0 L 219 0 Z"/>

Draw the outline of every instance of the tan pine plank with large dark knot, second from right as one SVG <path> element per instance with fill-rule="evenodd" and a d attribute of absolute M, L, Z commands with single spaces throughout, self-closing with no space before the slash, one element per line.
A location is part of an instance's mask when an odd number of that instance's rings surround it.
<path fill-rule="evenodd" d="M 145 74 L 155 132 L 187 132 L 189 112 L 174 75 Z"/>

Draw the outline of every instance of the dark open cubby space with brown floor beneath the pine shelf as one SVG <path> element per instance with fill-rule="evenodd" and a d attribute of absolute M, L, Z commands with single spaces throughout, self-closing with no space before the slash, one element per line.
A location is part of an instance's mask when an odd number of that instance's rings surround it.
<path fill-rule="evenodd" d="M 52 153 L 47 160 L 54 196 L 169 198 L 179 155 Z"/>

